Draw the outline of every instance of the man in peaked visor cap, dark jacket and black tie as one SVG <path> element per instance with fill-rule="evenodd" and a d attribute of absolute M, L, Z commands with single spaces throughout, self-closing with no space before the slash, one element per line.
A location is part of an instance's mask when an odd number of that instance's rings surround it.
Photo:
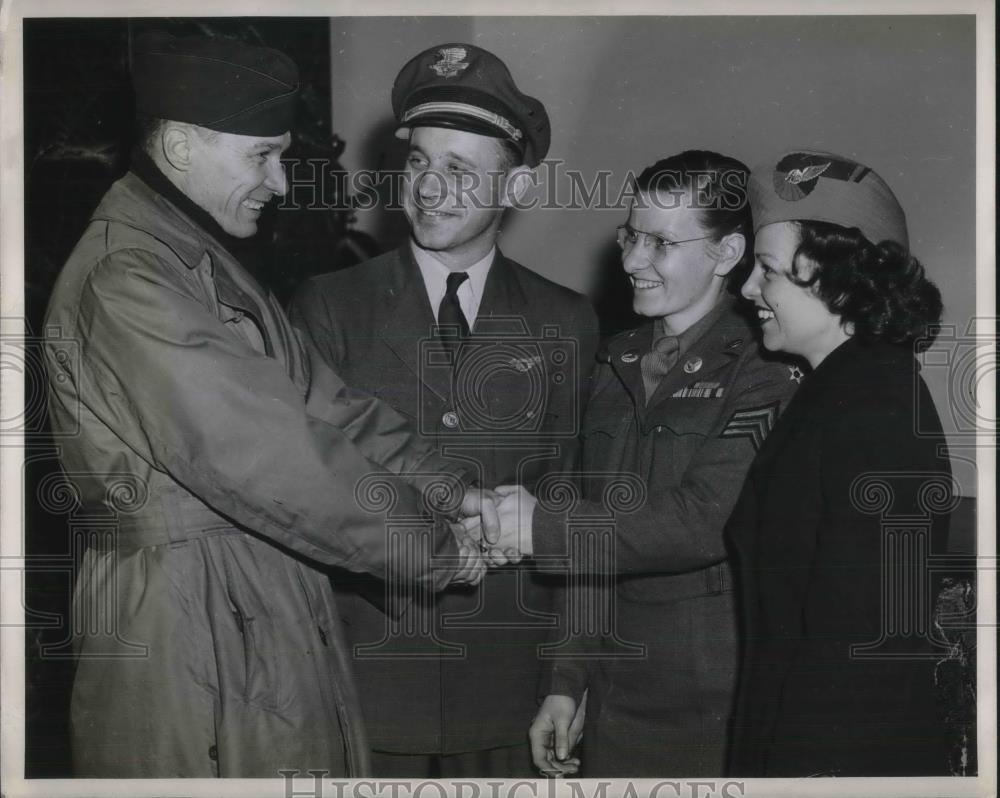
<path fill-rule="evenodd" d="M 392 109 L 409 142 L 409 240 L 307 281 L 292 321 L 481 484 L 534 485 L 575 454 L 597 342 L 583 296 L 497 246 L 548 151 L 545 107 L 493 53 L 455 43 L 403 66 Z M 338 582 L 338 601 L 376 775 L 536 775 L 525 728 L 557 582 L 525 562 L 489 571 L 479 589 L 409 600 L 387 601 L 392 590 L 363 576 L 347 588 Z"/>

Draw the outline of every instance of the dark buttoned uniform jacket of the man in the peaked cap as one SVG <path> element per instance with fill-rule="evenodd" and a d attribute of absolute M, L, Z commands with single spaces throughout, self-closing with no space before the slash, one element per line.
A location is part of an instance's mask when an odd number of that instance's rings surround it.
<path fill-rule="evenodd" d="M 291 315 L 346 380 L 391 404 L 486 487 L 532 485 L 575 452 L 593 310 L 499 252 L 457 371 L 434 354 L 434 316 L 409 246 L 307 282 Z M 402 615 L 383 600 L 383 584 L 355 580 L 338 594 L 373 747 L 523 744 L 557 583 L 527 567 L 498 569 L 479 589 L 417 597 Z M 379 645 L 387 624 L 394 632 Z"/>

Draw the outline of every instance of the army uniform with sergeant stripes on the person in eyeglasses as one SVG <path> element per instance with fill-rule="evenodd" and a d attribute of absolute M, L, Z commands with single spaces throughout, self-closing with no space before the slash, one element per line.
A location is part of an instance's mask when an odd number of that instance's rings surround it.
<path fill-rule="evenodd" d="M 533 520 L 540 561 L 617 574 L 603 582 L 611 599 L 588 599 L 613 632 L 557 646 L 542 684 L 543 693 L 578 700 L 589 688 L 588 777 L 722 772 L 737 662 L 722 531 L 796 388 L 797 372 L 765 359 L 732 304 L 647 404 L 640 361 L 653 324 L 616 336 L 598 357 L 583 423 L 582 501 L 554 508 L 540 489 Z M 586 543 L 595 532 L 610 538 Z M 574 584 L 580 596 L 601 580 Z"/>

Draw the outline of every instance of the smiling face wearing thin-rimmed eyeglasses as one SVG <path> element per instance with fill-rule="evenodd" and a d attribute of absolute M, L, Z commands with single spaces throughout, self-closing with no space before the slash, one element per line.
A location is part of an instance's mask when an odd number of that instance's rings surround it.
<path fill-rule="evenodd" d="M 634 245 L 622 250 L 632 307 L 642 316 L 665 319 L 668 329 L 679 334 L 715 306 L 733 263 L 701 226 L 701 211 L 691 208 L 686 192 L 642 199 L 633 203 L 628 226 L 650 236 L 639 235 Z M 657 238 L 660 243 L 654 243 Z"/>

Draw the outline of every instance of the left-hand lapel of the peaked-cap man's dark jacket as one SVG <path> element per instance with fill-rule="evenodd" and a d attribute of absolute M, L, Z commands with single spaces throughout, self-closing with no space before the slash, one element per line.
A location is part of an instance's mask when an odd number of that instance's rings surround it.
<path fill-rule="evenodd" d="M 413 375 L 434 391 L 442 401 L 451 396 L 451 370 L 428 368 L 422 363 L 423 352 L 432 355 L 434 314 L 420 268 L 409 243 L 395 252 L 382 295 L 383 312 L 379 337 Z M 421 346 L 421 342 L 425 342 Z"/>

